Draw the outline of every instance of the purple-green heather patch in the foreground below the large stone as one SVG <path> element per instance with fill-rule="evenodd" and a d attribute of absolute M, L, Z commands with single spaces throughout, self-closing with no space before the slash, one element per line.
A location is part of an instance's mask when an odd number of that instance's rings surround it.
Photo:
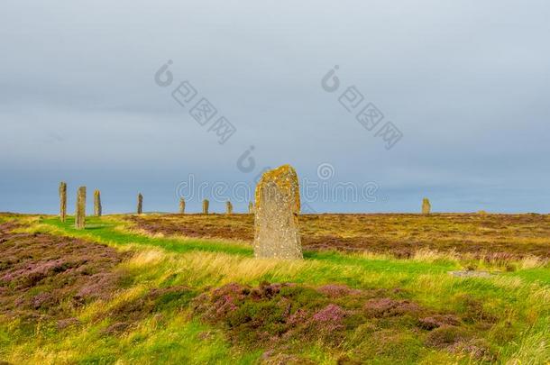
<path fill-rule="evenodd" d="M 201 294 L 191 306 L 203 321 L 221 326 L 235 346 L 264 351 L 267 362 L 298 354 L 305 343 L 353 350 L 346 358 L 352 362 L 365 356 L 357 349 L 376 352 L 403 343 L 417 347 L 410 353 L 438 348 L 492 356 L 457 315 L 435 313 L 406 296 L 401 289 L 339 284 L 232 283 Z"/>

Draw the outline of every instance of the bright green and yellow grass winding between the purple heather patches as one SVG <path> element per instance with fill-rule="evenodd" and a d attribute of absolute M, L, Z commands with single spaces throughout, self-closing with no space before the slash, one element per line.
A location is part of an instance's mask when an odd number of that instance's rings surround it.
<path fill-rule="evenodd" d="M 383 255 L 335 251 L 306 251 L 305 260 L 300 262 L 254 260 L 252 248 L 244 243 L 150 236 L 134 232 L 121 218 L 89 217 L 87 229 L 79 231 L 74 229 L 72 217 L 66 223 L 57 217 L 42 217 L 23 229 L 100 242 L 133 251 L 133 257 L 120 265 L 126 275 L 125 284 L 113 299 L 74 309 L 73 315 L 81 323 L 79 327 L 59 330 L 47 323 L 26 326 L 21 319 L 0 315 L 0 360 L 14 363 L 254 363 L 268 350 L 266 345 L 254 344 L 250 339 L 235 344 L 229 336 L 234 330 L 223 323 L 201 321 L 193 314 L 187 299 L 179 302 L 168 297 L 163 306 L 139 316 L 124 333 L 105 334 L 105 330 L 118 321 L 113 315 L 114 308 L 130 306 L 154 288 L 185 286 L 190 288 L 191 297 L 197 297 L 212 287 L 231 282 L 254 287 L 262 281 L 293 282 L 306 287 L 341 283 L 365 290 L 387 290 L 390 294 L 384 295 L 413 301 L 427 311 L 465 318 L 464 328 L 487 343 L 498 362 L 537 364 L 550 360 L 550 268 L 547 265 L 521 269 L 518 264 L 514 271 L 505 272 L 500 267 L 476 262 L 481 269 L 499 272 L 490 278 L 454 278 L 448 271 L 464 269 L 472 265 L 472 261 L 445 255 L 397 260 Z M 5 219 L 11 218 L 0 217 Z M 399 291 L 392 294 L 396 288 Z M 312 297 L 311 300 L 319 299 Z M 268 317 L 279 313 L 272 311 L 280 310 L 276 302 L 270 302 L 269 306 L 258 303 L 259 307 L 253 302 L 247 303 L 247 311 L 271 311 L 266 312 Z M 286 354 L 319 363 L 336 363 L 346 358 L 369 363 L 481 361 L 464 353 L 426 347 L 425 338 L 429 333 L 411 332 L 414 326 L 410 327 L 407 318 L 380 320 L 376 325 L 376 330 L 363 324 L 346 330 L 344 342 L 337 345 L 318 338 L 302 343 L 297 338 L 301 346 L 290 345 L 290 353 Z M 275 327 L 266 324 L 265 328 Z M 247 327 L 247 331 L 252 330 Z"/>

